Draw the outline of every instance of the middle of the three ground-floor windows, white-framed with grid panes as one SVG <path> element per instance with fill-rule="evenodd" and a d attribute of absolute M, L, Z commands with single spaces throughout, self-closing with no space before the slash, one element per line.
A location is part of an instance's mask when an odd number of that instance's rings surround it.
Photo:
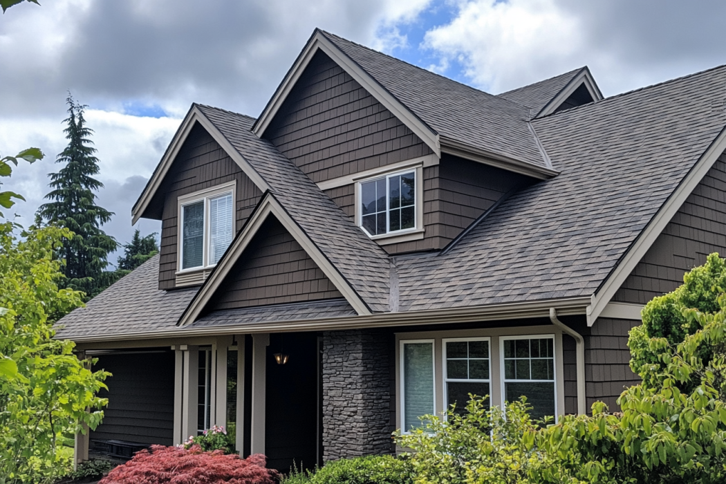
<path fill-rule="evenodd" d="M 457 413 L 464 413 L 469 395 L 492 401 L 492 364 L 489 337 L 444 338 L 443 351 L 444 403 L 446 409 L 455 404 Z"/>

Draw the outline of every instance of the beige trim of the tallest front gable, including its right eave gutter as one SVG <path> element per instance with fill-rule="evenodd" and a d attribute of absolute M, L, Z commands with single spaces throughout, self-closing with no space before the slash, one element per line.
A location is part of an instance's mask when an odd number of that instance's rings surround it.
<path fill-rule="evenodd" d="M 521 160 L 515 160 L 484 149 L 474 149 L 460 141 L 441 137 L 436 130 L 428 126 L 428 124 L 415 115 L 414 112 L 409 110 L 408 107 L 396 99 L 393 94 L 381 86 L 375 78 L 372 78 L 370 74 L 368 74 L 354 60 L 348 57 L 347 54 L 338 49 L 338 46 L 335 46 L 335 44 L 333 44 L 333 42 L 331 42 L 330 39 L 318 29 L 315 30 L 315 33 L 311 36 L 308 44 L 306 44 L 305 48 L 298 56 L 298 59 L 295 60 L 293 66 L 287 71 L 285 78 L 282 80 L 282 83 L 280 83 L 277 91 L 275 91 L 272 99 L 269 100 L 259 118 L 255 121 L 252 131 L 258 137 L 261 138 L 264 135 L 265 130 L 270 123 L 272 123 L 272 120 L 275 115 L 277 115 L 278 110 L 280 110 L 282 104 L 285 102 L 285 99 L 287 99 L 287 96 L 293 90 L 295 83 L 297 83 L 313 56 L 318 51 L 326 54 L 333 60 L 333 62 L 345 70 L 348 75 L 354 78 L 357 83 L 359 83 L 372 95 L 372 97 L 375 97 L 380 104 L 383 104 L 383 106 L 391 111 L 396 118 L 401 120 L 401 123 L 404 123 L 407 128 L 413 131 L 416 136 L 427 144 L 437 157 L 440 158 L 441 153 L 449 153 L 451 155 L 466 158 L 467 160 L 502 168 L 507 171 L 534 176 L 534 178 L 540 180 L 550 179 L 552 176 L 559 173 L 558 171 L 550 168 L 526 163 Z M 600 95 L 600 98 L 602 98 L 602 95 Z"/>

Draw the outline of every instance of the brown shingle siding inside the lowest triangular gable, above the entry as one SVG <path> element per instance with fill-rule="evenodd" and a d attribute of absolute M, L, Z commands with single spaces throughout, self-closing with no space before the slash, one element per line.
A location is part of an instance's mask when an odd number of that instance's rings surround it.
<path fill-rule="evenodd" d="M 264 221 L 221 287 L 210 311 L 343 297 L 274 216 Z"/>

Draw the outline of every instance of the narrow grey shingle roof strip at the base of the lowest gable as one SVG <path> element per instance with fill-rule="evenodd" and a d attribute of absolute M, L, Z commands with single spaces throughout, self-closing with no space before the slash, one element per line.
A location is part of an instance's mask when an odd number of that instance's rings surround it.
<path fill-rule="evenodd" d="M 185 329 L 211 326 L 240 326 L 278 321 L 303 321 L 306 319 L 342 318 L 356 316 L 354 308 L 344 299 L 328 299 L 309 303 L 277 304 L 252 308 L 213 311 Z"/>

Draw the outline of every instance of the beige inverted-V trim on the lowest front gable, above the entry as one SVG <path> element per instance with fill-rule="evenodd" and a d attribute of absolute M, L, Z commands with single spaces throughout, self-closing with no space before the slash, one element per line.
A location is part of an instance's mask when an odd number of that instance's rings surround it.
<path fill-rule="evenodd" d="M 242 256 L 245 248 L 248 247 L 252 241 L 254 235 L 262 223 L 268 216 L 274 216 L 277 218 L 282 226 L 285 227 L 290 235 L 293 236 L 295 241 L 303 247 L 303 250 L 310 256 L 310 258 L 317 264 L 317 266 L 323 271 L 325 276 L 330 279 L 335 287 L 340 291 L 340 294 L 350 303 L 351 306 L 356 310 L 359 315 L 370 314 L 371 311 L 359 297 L 355 290 L 348 284 L 348 281 L 342 274 L 336 269 L 330 261 L 328 261 L 325 254 L 311 241 L 311 239 L 305 234 L 305 232 L 298 226 L 298 223 L 293 220 L 292 217 L 287 213 L 285 208 L 280 205 L 272 192 L 266 192 L 260 205 L 256 208 L 255 212 L 245 224 L 245 228 L 242 229 L 240 234 L 229 246 L 227 252 L 222 256 L 221 261 L 217 264 L 215 270 L 208 277 L 205 283 L 200 288 L 197 295 L 189 303 L 189 306 L 181 314 L 177 326 L 184 327 L 192 322 L 196 321 L 203 313 L 205 306 L 210 302 L 213 295 L 219 290 L 221 283 L 224 281 L 225 276 L 237 262 L 237 259 Z"/>

